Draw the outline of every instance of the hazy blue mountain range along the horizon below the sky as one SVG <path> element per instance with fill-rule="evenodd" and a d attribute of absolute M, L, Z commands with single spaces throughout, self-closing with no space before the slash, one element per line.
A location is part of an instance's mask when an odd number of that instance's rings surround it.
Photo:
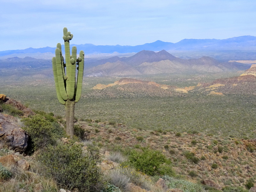
<path fill-rule="evenodd" d="M 72 46 L 76 46 L 78 50 L 84 50 L 85 54 L 100 54 L 100 53 L 137 53 L 142 50 L 151 50 L 151 51 L 160 51 L 160 50 L 167 50 L 167 51 L 227 51 L 230 52 L 231 50 L 234 52 L 235 50 L 256 50 L 256 37 L 255 36 L 240 36 L 240 37 L 233 37 L 229 39 L 183 39 L 177 43 L 171 42 L 164 42 L 164 41 L 155 41 L 152 43 L 145 43 L 143 45 L 136 45 L 136 46 L 121 46 L 121 45 L 93 45 L 93 44 L 81 44 L 75 45 L 71 44 Z M 51 53 L 53 54 L 55 48 L 45 47 L 45 48 L 27 48 L 22 50 L 6 50 L 0 51 L 0 57 L 6 55 L 26 55 L 28 53 L 33 54 L 34 57 L 36 53 L 38 55 Z M 232 53 L 233 53 L 232 52 Z M 247 53 L 246 52 L 246 53 Z M 245 54 L 246 54 L 245 53 Z M 223 53 L 222 53 L 223 54 Z M 205 55 L 205 54 L 204 54 Z M 46 57 L 47 55 L 45 55 Z M 247 55 L 246 55 L 247 56 Z M 243 59 L 241 58 L 228 58 L 231 59 Z M 251 59 L 254 59 L 255 55 L 252 56 Z M 40 56 L 42 58 L 42 56 Z"/>

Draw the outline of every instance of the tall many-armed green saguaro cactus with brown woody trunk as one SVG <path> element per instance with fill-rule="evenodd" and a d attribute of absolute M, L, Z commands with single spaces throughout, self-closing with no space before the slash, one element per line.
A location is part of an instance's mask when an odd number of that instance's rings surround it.
<path fill-rule="evenodd" d="M 57 44 L 55 57 L 52 58 L 52 69 L 55 81 L 55 87 L 58 100 L 66 109 L 66 132 L 70 137 L 74 135 L 74 113 L 75 103 L 81 98 L 82 81 L 84 75 L 84 51 L 80 51 L 79 57 L 76 58 L 76 47 L 72 47 L 70 56 L 69 41 L 73 34 L 68 29 L 63 28 L 63 40 L 65 46 L 65 60 L 62 56 L 61 44 Z M 76 65 L 78 67 L 76 68 Z M 66 67 L 66 73 L 65 73 Z M 76 69 L 77 80 L 76 80 Z"/>

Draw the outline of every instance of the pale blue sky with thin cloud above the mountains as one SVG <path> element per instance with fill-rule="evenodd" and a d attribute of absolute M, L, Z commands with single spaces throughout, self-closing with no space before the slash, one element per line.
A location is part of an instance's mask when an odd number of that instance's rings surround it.
<path fill-rule="evenodd" d="M 0 51 L 256 36 L 255 0 L 1 0 Z"/>

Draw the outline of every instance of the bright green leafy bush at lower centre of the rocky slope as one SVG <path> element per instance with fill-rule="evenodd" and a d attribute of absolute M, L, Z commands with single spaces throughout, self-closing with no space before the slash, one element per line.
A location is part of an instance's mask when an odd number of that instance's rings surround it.
<path fill-rule="evenodd" d="M 133 150 L 129 156 L 130 164 L 148 175 L 157 174 L 160 165 L 166 161 L 167 159 L 160 151 L 145 148 L 141 149 L 141 151 Z"/>

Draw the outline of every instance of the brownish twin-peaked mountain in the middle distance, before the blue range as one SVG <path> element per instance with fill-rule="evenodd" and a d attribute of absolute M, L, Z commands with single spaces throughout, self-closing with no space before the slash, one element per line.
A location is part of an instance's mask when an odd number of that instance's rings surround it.
<path fill-rule="evenodd" d="M 85 62 L 87 77 L 133 76 L 174 73 L 216 73 L 246 70 L 250 65 L 237 62 L 220 63 L 211 57 L 180 59 L 165 50 L 140 51 L 131 57 L 111 57 L 104 60 Z"/>

